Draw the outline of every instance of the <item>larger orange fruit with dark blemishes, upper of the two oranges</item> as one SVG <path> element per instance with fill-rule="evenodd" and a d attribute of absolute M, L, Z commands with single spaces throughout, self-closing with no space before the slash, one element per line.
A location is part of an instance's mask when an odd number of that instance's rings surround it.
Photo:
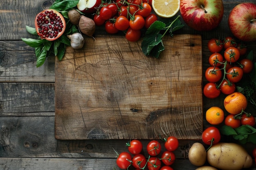
<path fill-rule="evenodd" d="M 237 115 L 247 107 L 247 99 L 240 92 L 234 92 L 224 99 L 224 107 L 228 113 Z"/>

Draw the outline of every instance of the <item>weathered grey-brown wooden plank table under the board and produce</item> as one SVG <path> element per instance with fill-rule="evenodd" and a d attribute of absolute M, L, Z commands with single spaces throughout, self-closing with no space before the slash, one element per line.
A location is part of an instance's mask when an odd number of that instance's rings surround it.
<path fill-rule="evenodd" d="M 35 38 L 25 30 L 34 26 L 34 17 L 51 6 L 54 0 L 0 1 L 0 169 L 6 170 L 93 170 L 119 169 L 116 153 L 126 151 L 127 140 L 57 140 L 54 137 L 55 58 L 47 58 L 36 68 L 34 49 L 20 38 Z M 184 26 L 177 33 L 202 35 L 203 71 L 208 67 L 211 38 L 232 36 L 227 25 L 229 12 L 236 4 L 254 0 L 223 0 L 225 13 L 217 29 L 198 32 Z M 179 14 L 179 13 L 178 13 Z M 96 34 L 105 34 L 99 30 Z M 256 42 L 249 43 L 254 49 Z M 256 55 L 256 51 L 254 51 Z M 203 78 L 203 82 L 206 80 Z M 224 97 L 224 96 L 222 96 Z M 221 99 L 203 98 L 203 112 L 210 106 L 223 108 Z M 203 114 L 204 114 L 203 113 Z M 253 113 L 256 116 L 256 113 Z M 204 128 L 209 124 L 204 120 Z M 230 141 L 227 138 L 222 141 Z M 148 140 L 142 141 L 145 146 Z M 194 170 L 186 157 L 194 140 L 180 140 L 175 151 L 175 170 Z M 251 151 L 256 145 L 247 144 Z M 255 165 L 251 170 L 256 170 Z"/>

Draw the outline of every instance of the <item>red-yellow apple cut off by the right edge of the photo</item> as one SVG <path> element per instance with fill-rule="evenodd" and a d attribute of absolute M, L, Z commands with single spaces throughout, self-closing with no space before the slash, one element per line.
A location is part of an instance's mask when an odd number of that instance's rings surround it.
<path fill-rule="evenodd" d="M 242 41 L 256 40 L 256 4 L 241 3 L 232 9 L 228 19 L 229 29 Z"/>

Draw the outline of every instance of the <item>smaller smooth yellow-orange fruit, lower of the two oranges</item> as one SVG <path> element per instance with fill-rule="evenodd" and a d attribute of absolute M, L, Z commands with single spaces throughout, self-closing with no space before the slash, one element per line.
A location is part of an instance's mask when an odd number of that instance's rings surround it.
<path fill-rule="evenodd" d="M 218 125 L 224 120 L 224 112 L 221 108 L 213 106 L 206 111 L 205 118 L 209 124 Z"/>

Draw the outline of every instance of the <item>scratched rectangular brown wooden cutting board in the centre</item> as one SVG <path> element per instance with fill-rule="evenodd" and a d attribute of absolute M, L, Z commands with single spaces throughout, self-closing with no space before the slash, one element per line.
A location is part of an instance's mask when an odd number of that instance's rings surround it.
<path fill-rule="evenodd" d="M 55 66 L 56 139 L 200 139 L 202 39 L 165 36 L 159 59 L 124 36 L 85 38 Z"/>

